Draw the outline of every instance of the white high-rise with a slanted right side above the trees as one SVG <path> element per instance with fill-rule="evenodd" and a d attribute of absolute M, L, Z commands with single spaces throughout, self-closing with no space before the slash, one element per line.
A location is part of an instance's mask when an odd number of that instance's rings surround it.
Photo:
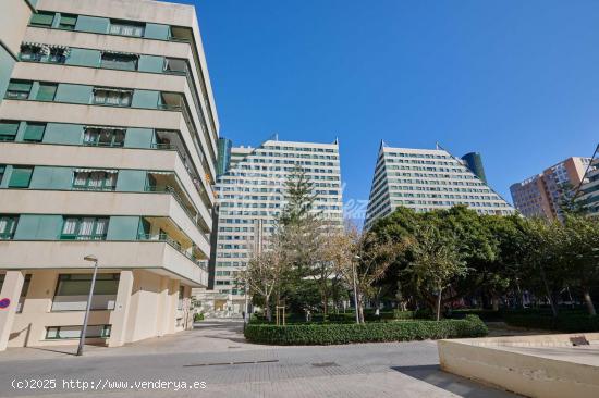
<path fill-rule="evenodd" d="M 366 211 L 365 228 L 398 207 L 417 212 L 465 204 L 480 214 L 514 209 L 443 149 L 391 148 L 381 142 Z"/>

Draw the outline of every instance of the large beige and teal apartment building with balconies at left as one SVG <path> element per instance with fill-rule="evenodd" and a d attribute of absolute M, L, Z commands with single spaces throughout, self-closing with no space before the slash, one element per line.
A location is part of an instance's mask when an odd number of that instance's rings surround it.
<path fill-rule="evenodd" d="M 89 256 L 90 341 L 191 327 L 191 288 L 208 279 L 219 128 L 195 9 L 0 8 L 0 57 L 15 57 L 0 76 L 0 350 L 80 336 Z"/>

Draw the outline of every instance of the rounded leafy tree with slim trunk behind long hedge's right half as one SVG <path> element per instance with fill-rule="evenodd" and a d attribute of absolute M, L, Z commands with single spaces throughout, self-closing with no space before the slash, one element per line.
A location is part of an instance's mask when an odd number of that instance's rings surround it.
<path fill-rule="evenodd" d="M 427 295 L 436 295 L 435 313 L 439 321 L 443 290 L 468 271 L 465 261 L 461 259 L 456 236 L 443 233 L 433 224 L 425 224 L 416 229 L 411 250 L 414 260 L 406 272 L 411 273 L 416 286 Z"/>

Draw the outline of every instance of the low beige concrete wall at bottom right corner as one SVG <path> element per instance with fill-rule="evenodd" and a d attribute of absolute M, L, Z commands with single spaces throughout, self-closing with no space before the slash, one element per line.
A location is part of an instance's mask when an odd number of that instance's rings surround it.
<path fill-rule="evenodd" d="M 572 347 L 574 335 L 438 341 L 441 369 L 528 397 L 599 397 L 599 365 L 510 351 L 509 347 Z M 595 346 L 599 334 L 584 334 Z M 504 347 L 505 349 L 502 349 Z M 597 346 L 595 346 L 597 347 Z M 575 353 L 575 352 L 574 352 Z M 599 360 L 598 360 L 599 363 Z"/>

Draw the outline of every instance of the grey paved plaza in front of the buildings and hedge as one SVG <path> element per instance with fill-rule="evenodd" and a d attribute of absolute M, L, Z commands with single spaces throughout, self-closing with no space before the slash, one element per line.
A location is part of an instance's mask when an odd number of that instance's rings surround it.
<path fill-rule="evenodd" d="M 86 347 L 83 358 L 74 351 L 0 353 L 0 397 L 514 397 L 440 372 L 435 341 L 272 347 L 245 343 L 240 323 L 204 322 L 120 348 Z"/>

